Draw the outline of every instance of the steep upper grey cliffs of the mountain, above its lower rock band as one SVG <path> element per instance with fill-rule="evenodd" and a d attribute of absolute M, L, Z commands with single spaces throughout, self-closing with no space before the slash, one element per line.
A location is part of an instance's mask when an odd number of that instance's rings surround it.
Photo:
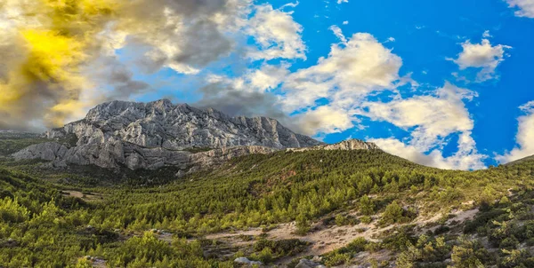
<path fill-rule="evenodd" d="M 169 100 L 150 103 L 113 101 L 94 107 L 78 122 L 46 132 L 48 138 L 75 134 L 78 146 L 125 141 L 143 147 L 183 150 L 266 146 L 308 147 L 322 143 L 296 134 L 267 117 L 230 117 L 214 109 L 197 109 Z"/>

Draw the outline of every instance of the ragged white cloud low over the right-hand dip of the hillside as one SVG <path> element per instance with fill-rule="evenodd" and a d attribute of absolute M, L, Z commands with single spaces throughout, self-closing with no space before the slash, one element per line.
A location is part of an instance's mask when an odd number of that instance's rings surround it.
<path fill-rule="evenodd" d="M 368 102 L 365 104 L 368 111 L 362 114 L 411 131 L 408 144 L 395 138 L 371 139 L 386 152 L 441 169 L 481 169 L 486 156 L 476 150 L 471 137 L 473 120 L 464 104 L 464 99 L 475 96 L 473 91 L 446 83 L 433 95 L 388 103 Z M 457 153 L 443 157 L 441 148 L 445 138 L 454 133 L 459 135 Z"/>

